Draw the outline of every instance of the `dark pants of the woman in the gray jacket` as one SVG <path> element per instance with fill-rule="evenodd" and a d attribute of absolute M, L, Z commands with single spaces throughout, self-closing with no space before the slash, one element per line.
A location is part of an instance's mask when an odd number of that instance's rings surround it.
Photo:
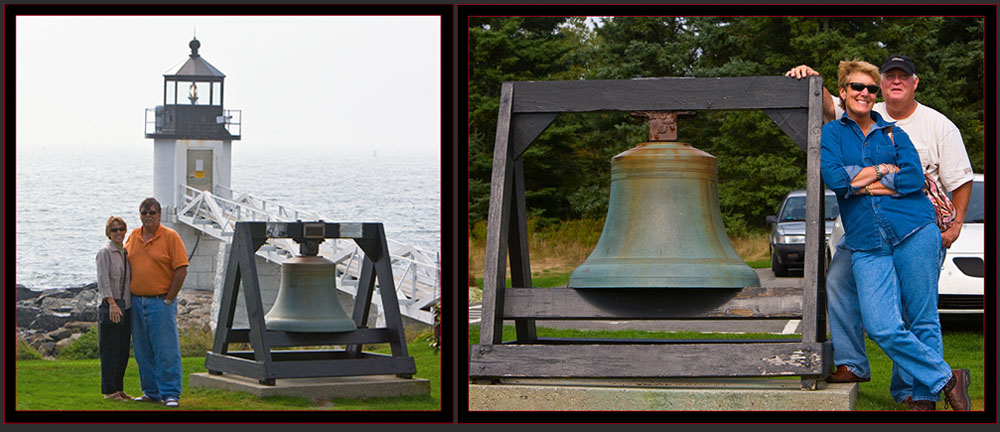
<path fill-rule="evenodd" d="M 124 300 L 117 300 L 120 305 Z M 98 347 L 101 354 L 101 393 L 111 394 L 123 391 L 125 366 L 128 365 L 129 344 L 132 342 L 131 310 L 122 310 L 122 319 L 111 322 L 108 304 L 97 308 Z"/>

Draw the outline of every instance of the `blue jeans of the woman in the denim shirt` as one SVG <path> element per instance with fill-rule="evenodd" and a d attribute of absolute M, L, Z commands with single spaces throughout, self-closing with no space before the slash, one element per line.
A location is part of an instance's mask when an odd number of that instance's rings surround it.
<path fill-rule="evenodd" d="M 908 379 L 913 400 L 938 401 L 952 376 L 937 312 L 941 253 L 941 232 L 927 224 L 898 245 L 883 239 L 851 256 L 864 328 L 894 363 L 897 402 L 906 398 Z"/>

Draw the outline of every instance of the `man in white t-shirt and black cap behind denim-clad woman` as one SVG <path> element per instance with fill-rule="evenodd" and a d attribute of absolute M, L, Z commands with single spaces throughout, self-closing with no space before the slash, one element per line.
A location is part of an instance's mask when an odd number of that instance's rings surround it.
<path fill-rule="evenodd" d="M 896 122 L 910 139 L 920 155 L 924 173 L 930 175 L 938 183 L 938 188 L 951 192 L 955 205 L 955 223 L 947 231 L 941 233 L 942 248 L 951 247 L 962 230 L 965 212 L 969 206 L 969 196 L 972 192 L 972 165 L 962 135 L 955 124 L 943 114 L 920 104 L 914 99 L 914 93 L 920 79 L 916 68 L 909 57 L 890 55 L 882 67 L 881 92 L 884 102 L 875 104 L 873 110 L 886 121 Z M 788 71 L 785 76 L 802 79 L 809 75 L 819 75 L 811 67 L 801 65 Z M 823 120 L 831 121 L 843 116 L 839 101 L 823 89 Z M 838 228 L 842 225 L 837 224 Z M 844 251 L 841 244 L 838 252 Z M 942 251 L 941 257 L 944 257 Z M 865 382 L 870 379 L 871 370 L 868 357 L 865 354 L 864 332 L 861 314 L 858 306 L 857 286 L 851 273 L 851 254 L 837 253 L 834 255 L 830 268 L 827 270 L 826 291 L 828 312 L 830 316 L 830 332 L 833 339 L 833 360 L 837 366 L 836 372 L 827 378 L 829 382 Z M 937 293 L 919 293 L 918 300 L 907 304 L 906 293 L 903 293 L 904 310 L 911 314 L 922 312 L 937 318 Z M 921 303 L 921 305 L 915 304 Z M 907 307 L 909 306 L 909 308 Z M 904 314 L 906 315 L 906 314 Z M 912 319 L 912 316 L 907 317 Z M 908 320 L 909 321 L 909 320 Z M 907 322 L 909 325 L 909 322 Z M 932 341 L 938 349 L 941 342 Z M 926 343 L 926 342 L 925 342 Z M 893 365 L 892 381 L 889 392 L 896 402 L 904 403 L 911 409 L 934 409 L 934 401 L 914 401 L 913 380 L 908 374 Z"/>

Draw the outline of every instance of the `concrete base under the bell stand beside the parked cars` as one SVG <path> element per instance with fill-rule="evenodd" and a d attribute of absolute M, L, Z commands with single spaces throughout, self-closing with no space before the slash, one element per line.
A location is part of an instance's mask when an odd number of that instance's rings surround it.
<path fill-rule="evenodd" d="M 854 408 L 857 383 L 820 382 L 801 390 L 798 379 L 503 379 L 469 386 L 470 411 L 790 411 Z"/>

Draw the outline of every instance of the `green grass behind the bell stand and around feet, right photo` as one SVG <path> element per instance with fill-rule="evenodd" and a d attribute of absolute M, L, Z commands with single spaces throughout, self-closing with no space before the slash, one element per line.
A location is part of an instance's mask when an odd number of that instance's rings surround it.
<path fill-rule="evenodd" d="M 543 338 L 593 338 L 593 339 L 799 339 L 800 335 L 777 335 L 771 333 L 697 333 L 697 332 L 651 332 L 642 330 L 577 330 L 551 329 L 538 327 L 538 337 Z M 513 326 L 504 326 L 503 340 L 514 340 Z M 469 326 L 469 344 L 479 343 L 479 325 Z M 904 405 L 897 404 L 889 396 L 889 380 L 892 373 L 892 361 L 870 339 L 866 339 L 869 362 L 871 363 L 872 379 L 861 383 L 858 387 L 858 400 L 855 411 L 893 411 L 905 410 Z M 972 384 L 969 386 L 969 396 L 972 399 L 972 410 L 983 410 L 983 336 L 974 331 L 944 332 L 945 360 L 955 369 L 968 368 L 972 372 Z M 795 379 L 795 377 L 790 377 Z M 944 402 L 937 404 L 937 409 L 945 408 Z"/>

